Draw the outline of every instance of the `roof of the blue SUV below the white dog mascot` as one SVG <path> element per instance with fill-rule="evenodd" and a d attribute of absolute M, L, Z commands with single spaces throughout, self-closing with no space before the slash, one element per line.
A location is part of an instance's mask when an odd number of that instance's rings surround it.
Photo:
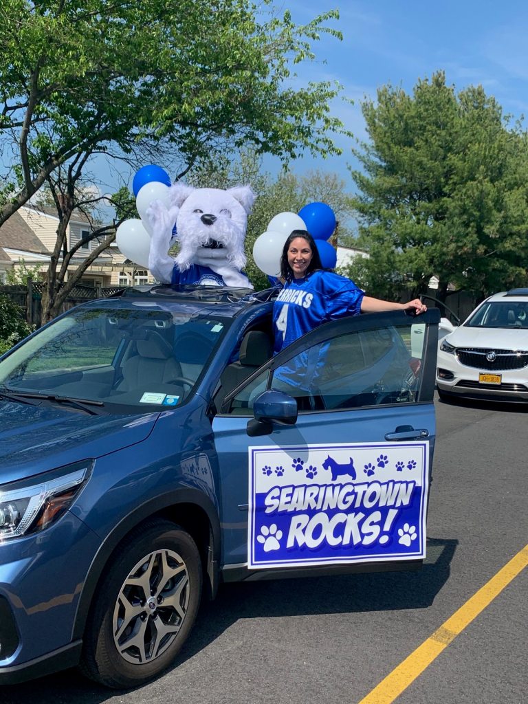
<path fill-rule="evenodd" d="M 175 304 L 181 308 L 191 308 L 194 313 L 212 314 L 220 317 L 233 318 L 243 310 L 252 308 L 259 303 L 272 301 L 277 297 L 279 289 L 238 289 L 220 286 L 135 286 L 124 289 L 110 298 L 99 298 L 84 306 L 101 305 L 120 307 L 120 301 L 125 305 L 133 301 L 149 301 L 161 306 Z"/>

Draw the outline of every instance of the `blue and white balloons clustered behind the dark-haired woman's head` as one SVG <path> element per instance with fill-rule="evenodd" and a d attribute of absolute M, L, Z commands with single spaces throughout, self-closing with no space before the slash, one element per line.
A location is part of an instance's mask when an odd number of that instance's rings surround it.
<path fill-rule="evenodd" d="M 326 203 L 309 203 L 296 213 L 279 213 L 270 220 L 268 230 L 255 240 L 253 259 L 258 268 L 271 277 L 280 275 L 280 258 L 284 243 L 294 230 L 308 230 L 315 239 L 321 263 L 325 269 L 333 269 L 337 252 L 327 241 L 336 228 L 332 208 Z"/>

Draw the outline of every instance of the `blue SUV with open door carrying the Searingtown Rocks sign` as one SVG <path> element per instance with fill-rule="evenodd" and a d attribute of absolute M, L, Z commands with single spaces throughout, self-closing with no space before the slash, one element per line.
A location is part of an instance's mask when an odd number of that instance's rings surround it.
<path fill-rule="evenodd" d="M 275 295 L 130 289 L 0 360 L 0 684 L 137 686 L 222 582 L 420 567 L 438 311 L 273 356 Z"/>

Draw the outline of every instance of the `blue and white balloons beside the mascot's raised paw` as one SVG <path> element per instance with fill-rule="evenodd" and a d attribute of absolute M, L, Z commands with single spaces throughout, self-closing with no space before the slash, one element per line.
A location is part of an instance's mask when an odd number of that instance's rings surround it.
<path fill-rule="evenodd" d="M 138 218 L 124 220 L 115 232 L 115 241 L 121 253 L 130 261 L 149 268 L 151 232 L 146 210 L 152 201 L 162 201 L 168 207 L 170 176 L 161 168 L 149 164 L 142 166 L 132 181 L 136 196 Z"/>

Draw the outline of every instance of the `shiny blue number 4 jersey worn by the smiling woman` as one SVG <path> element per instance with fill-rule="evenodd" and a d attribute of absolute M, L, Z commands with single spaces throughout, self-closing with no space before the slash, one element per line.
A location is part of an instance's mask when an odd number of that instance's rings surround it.
<path fill-rule="evenodd" d="M 329 271 L 286 282 L 273 306 L 275 354 L 323 322 L 358 315 L 364 295 L 351 279 Z"/>

